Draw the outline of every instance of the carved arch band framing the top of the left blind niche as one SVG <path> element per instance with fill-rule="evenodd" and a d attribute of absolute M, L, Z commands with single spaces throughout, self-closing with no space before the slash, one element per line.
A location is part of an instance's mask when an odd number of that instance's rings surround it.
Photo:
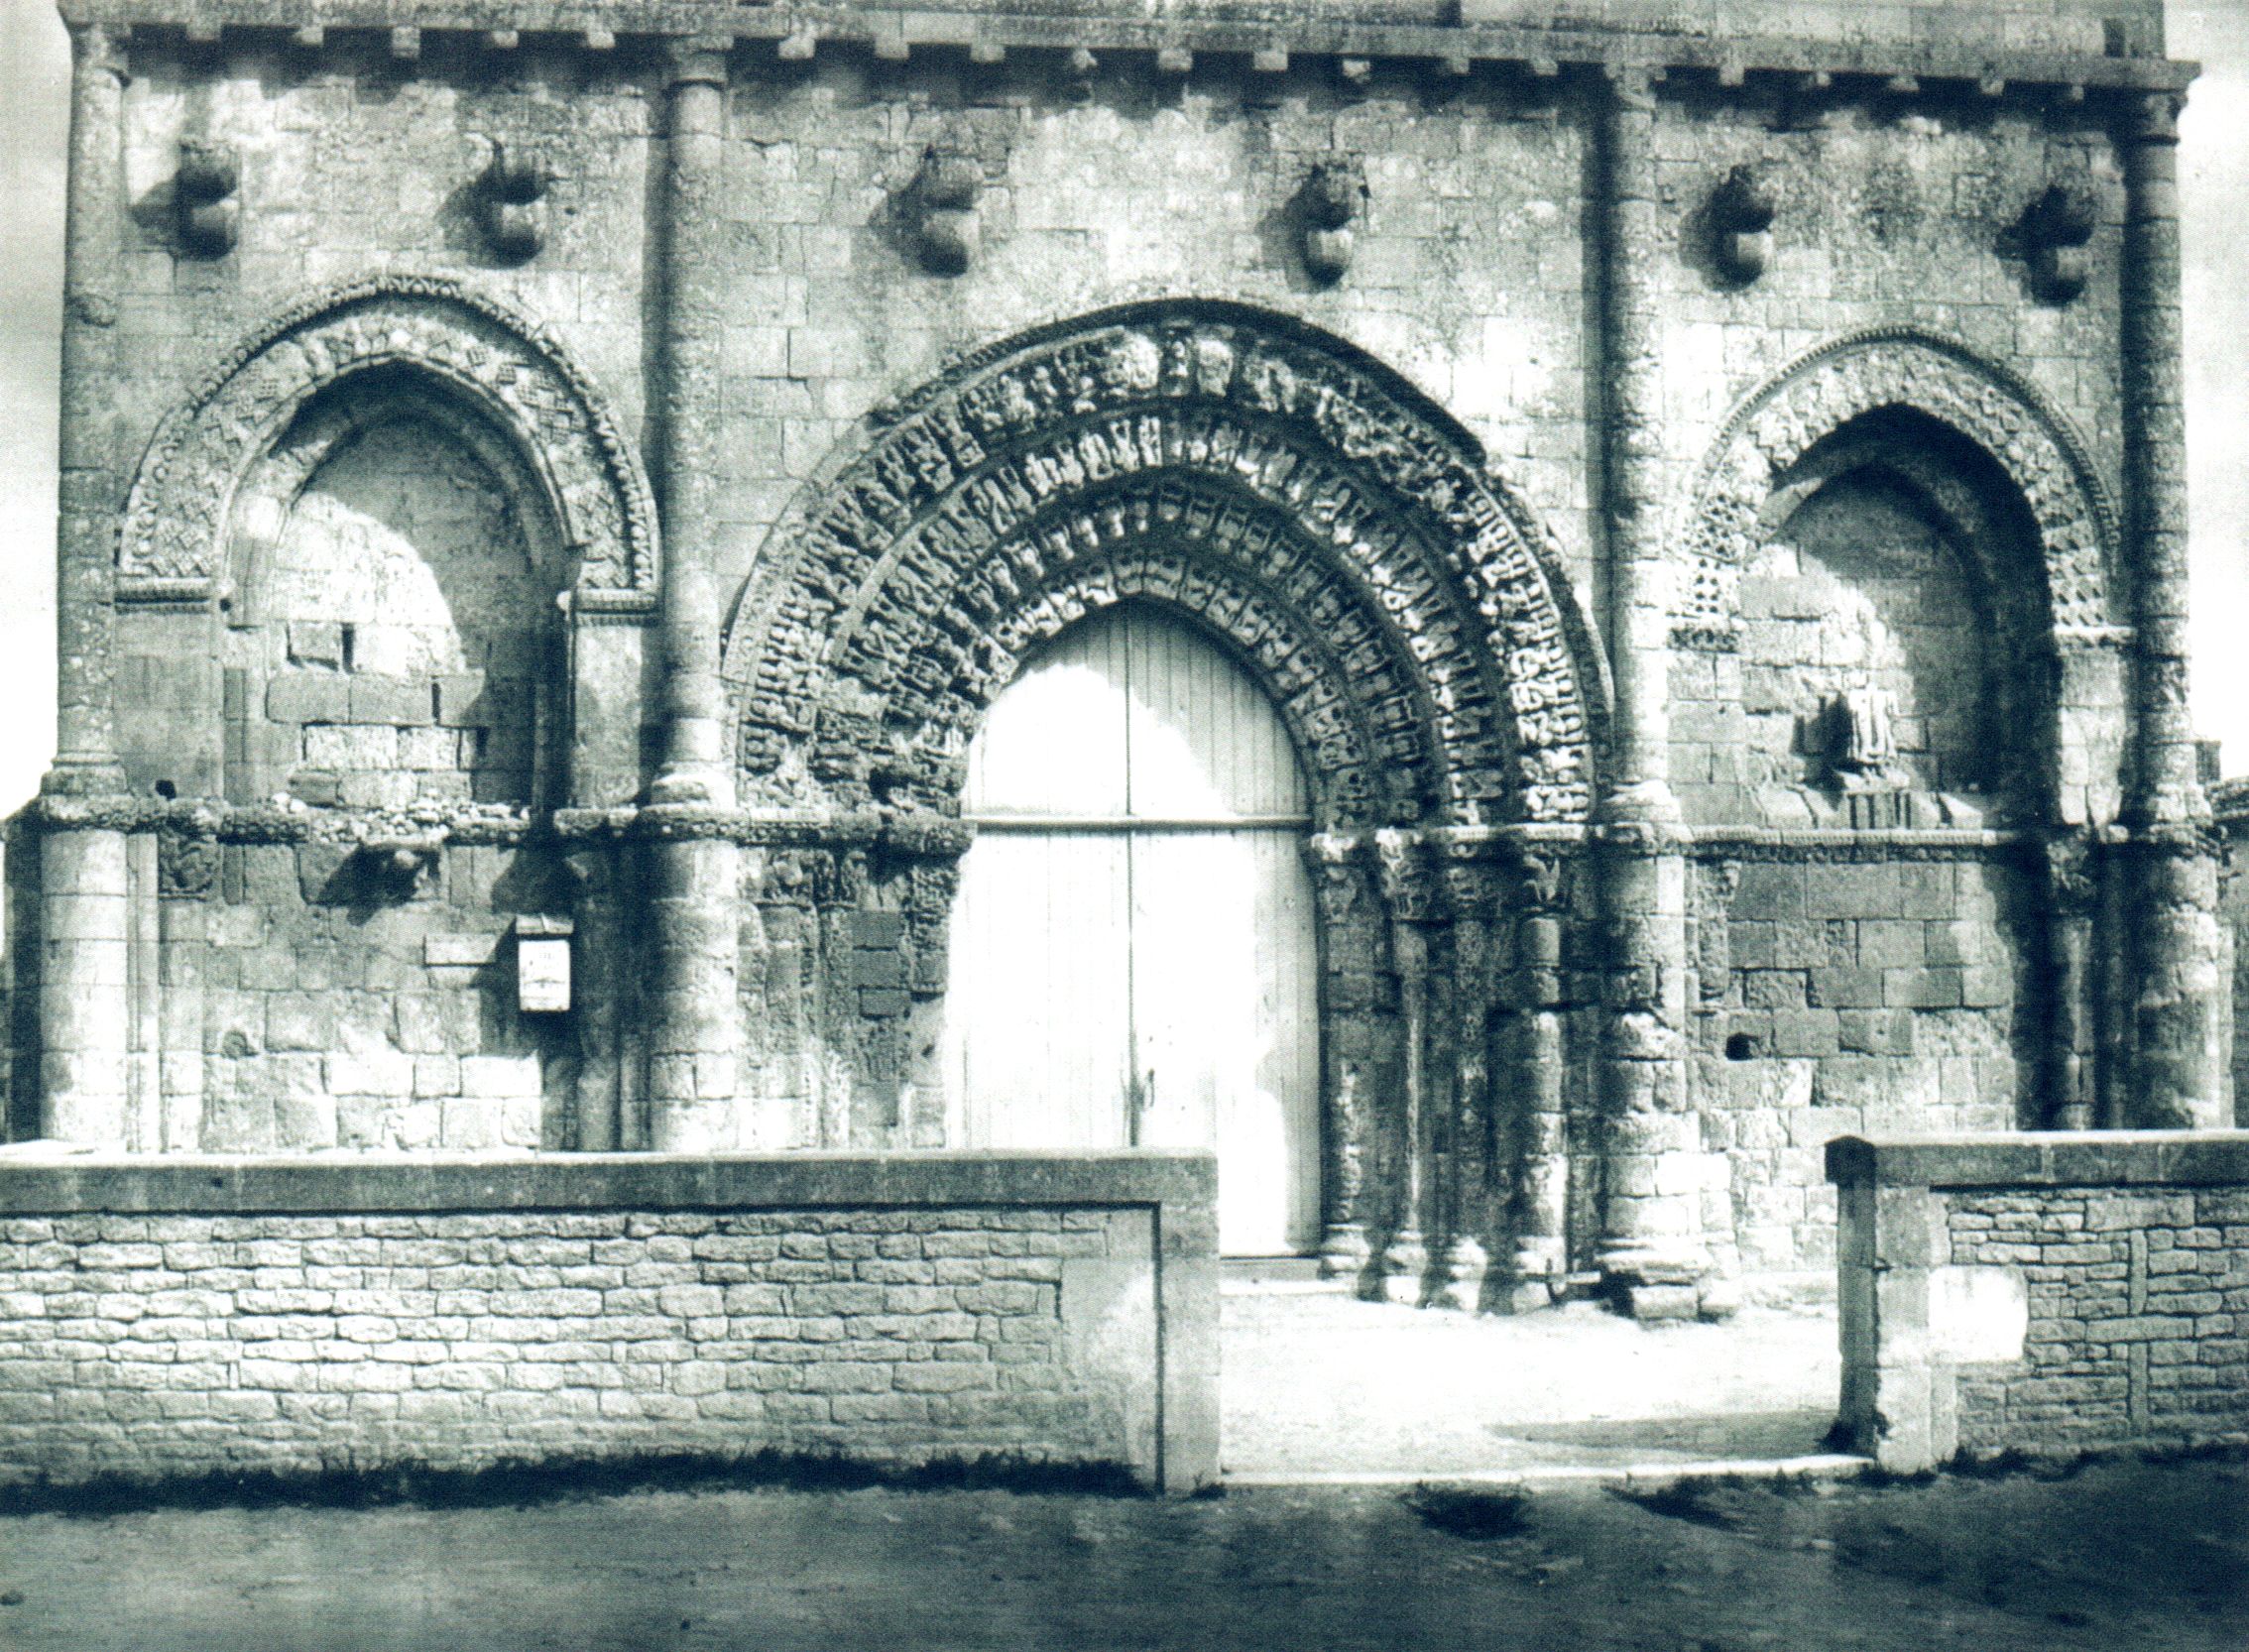
<path fill-rule="evenodd" d="M 126 497 L 121 593 L 209 589 L 225 573 L 243 479 L 315 398 L 385 369 L 439 387 L 517 450 L 578 564 L 580 593 L 652 602 L 654 503 L 600 391 L 544 326 L 427 274 L 355 281 L 288 308 L 164 416 Z"/>

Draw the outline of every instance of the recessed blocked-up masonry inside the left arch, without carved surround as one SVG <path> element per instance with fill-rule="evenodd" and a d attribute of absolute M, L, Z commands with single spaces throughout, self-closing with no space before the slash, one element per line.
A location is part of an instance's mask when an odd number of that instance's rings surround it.
<path fill-rule="evenodd" d="M 441 382 L 373 369 L 308 402 L 243 479 L 229 569 L 229 800 L 558 800 L 576 569 L 529 465 Z"/>

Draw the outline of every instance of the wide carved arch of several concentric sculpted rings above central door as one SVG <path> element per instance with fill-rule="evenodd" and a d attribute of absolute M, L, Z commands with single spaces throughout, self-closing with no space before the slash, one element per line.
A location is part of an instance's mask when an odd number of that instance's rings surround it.
<path fill-rule="evenodd" d="M 1475 443 L 1284 317 L 1149 303 L 958 362 L 776 528 L 726 638 L 747 796 L 947 807 L 1026 650 L 1187 611 L 1329 820 L 1572 820 L 1588 641 Z"/>

